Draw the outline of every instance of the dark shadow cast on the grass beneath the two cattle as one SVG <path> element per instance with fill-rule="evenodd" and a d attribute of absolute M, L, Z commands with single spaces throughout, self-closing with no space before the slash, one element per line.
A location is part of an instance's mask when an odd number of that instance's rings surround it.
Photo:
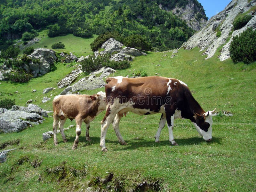
<path fill-rule="evenodd" d="M 90 137 L 92 141 L 86 141 L 85 136 L 79 137 L 79 143 L 86 147 L 90 144 L 99 144 L 100 146 L 100 137 Z M 76 137 L 69 137 L 67 138 L 68 143 L 74 143 Z M 199 145 L 201 143 L 206 142 L 207 144 L 211 145 L 213 143 L 222 144 L 222 138 L 219 137 L 212 137 L 212 141 L 205 141 L 203 138 L 199 137 L 191 137 L 188 139 L 175 139 L 175 141 L 179 144 L 179 146 L 189 146 L 189 145 Z M 63 142 L 63 141 L 60 141 Z M 169 140 L 162 140 L 160 143 L 156 143 L 155 140 L 148 141 L 144 139 L 131 139 L 131 140 L 125 140 L 127 145 L 124 146 L 122 149 L 117 150 L 127 150 L 127 149 L 136 149 L 136 148 L 144 148 L 144 147 L 158 147 L 158 146 L 172 146 Z M 116 138 L 116 140 L 106 140 L 106 147 L 108 147 L 108 143 L 114 143 L 114 144 L 120 144 Z M 78 144 L 79 145 L 79 144 Z"/>

